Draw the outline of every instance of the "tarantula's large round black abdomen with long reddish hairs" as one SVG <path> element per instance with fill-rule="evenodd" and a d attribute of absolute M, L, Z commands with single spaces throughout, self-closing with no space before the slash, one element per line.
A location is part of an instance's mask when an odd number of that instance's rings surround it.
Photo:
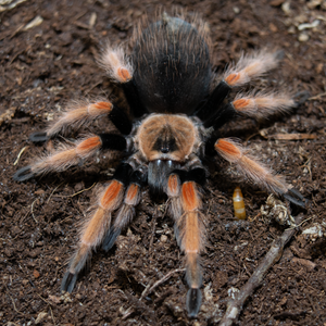
<path fill-rule="evenodd" d="M 138 37 L 134 80 L 149 112 L 191 114 L 209 95 L 209 47 L 191 24 L 163 14 Z"/>

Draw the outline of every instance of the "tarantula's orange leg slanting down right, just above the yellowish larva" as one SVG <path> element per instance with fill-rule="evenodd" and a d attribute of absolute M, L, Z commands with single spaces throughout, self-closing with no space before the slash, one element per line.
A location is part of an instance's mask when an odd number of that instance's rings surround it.
<path fill-rule="evenodd" d="M 298 196 L 299 191 L 291 188 L 281 176 L 275 175 L 272 170 L 260 163 L 255 158 L 247 154 L 247 150 L 233 140 L 217 139 L 214 147 L 222 158 L 234 163 L 253 183 L 263 186 L 271 192 L 286 197 L 297 205 L 305 205 L 304 198 L 301 195 Z"/>

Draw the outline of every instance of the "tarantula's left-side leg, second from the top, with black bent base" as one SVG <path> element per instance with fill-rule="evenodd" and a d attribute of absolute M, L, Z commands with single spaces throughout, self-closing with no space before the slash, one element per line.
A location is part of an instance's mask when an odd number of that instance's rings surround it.
<path fill-rule="evenodd" d="M 111 102 L 99 101 L 96 103 L 71 104 L 65 113 L 46 131 L 34 133 L 29 139 L 34 142 L 46 141 L 59 133 L 66 134 L 67 128 L 79 128 L 82 125 L 96 118 L 108 115 L 115 127 L 123 134 L 128 135 L 133 125 L 123 110 Z"/>

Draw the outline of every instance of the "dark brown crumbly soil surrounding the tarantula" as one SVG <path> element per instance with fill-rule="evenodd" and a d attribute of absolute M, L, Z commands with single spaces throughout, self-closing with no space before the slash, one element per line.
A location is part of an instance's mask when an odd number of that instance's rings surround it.
<path fill-rule="evenodd" d="M 302 235 L 315 223 L 325 231 L 326 2 L 15 2 L 1 1 L 0 7 L 1 324 L 217 325 L 230 292 L 244 285 L 286 228 L 261 215 L 268 193 L 222 164 L 204 195 L 208 243 L 198 318 L 189 319 L 185 311 L 187 285 L 178 271 L 184 263 L 173 222 L 165 205 L 148 196 L 117 246 L 109 253 L 98 250 L 73 293 L 61 294 L 66 262 L 78 241 L 77 226 L 96 189 L 112 176 L 114 160 L 103 152 L 82 167 L 27 183 L 16 183 L 12 175 L 43 152 L 28 136 L 42 130 L 67 101 L 102 96 L 123 103 L 95 58 L 108 39 L 128 48 L 133 26 L 145 13 L 154 16 L 163 3 L 167 11 L 172 5 L 185 8 L 209 23 L 217 74 L 242 50 L 283 49 L 280 68 L 261 85 L 310 93 L 289 115 L 237 121 L 225 128 L 225 135 L 239 137 L 310 200 L 304 210 L 292 206 L 304 223 L 244 304 L 238 325 L 326 325 L 326 240 L 323 233 L 315 238 Z M 96 128 L 101 129 L 101 123 Z M 48 150 L 52 146 L 48 143 Z M 231 196 L 238 185 L 249 217 L 244 222 L 234 220 Z M 146 287 L 171 272 L 166 281 L 140 298 Z"/>

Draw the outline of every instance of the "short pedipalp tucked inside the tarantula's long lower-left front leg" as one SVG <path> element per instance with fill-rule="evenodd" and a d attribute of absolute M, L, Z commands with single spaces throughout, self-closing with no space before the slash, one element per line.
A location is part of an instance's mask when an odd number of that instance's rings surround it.
<path fill-rule="evenodd" d="M 126 190 L 123 204 L 114 218 L 112 227 L 104 236 L 103 250 L 109 251 L 113 247 L 117 236 L 135 217 L 135 206 L 138 205 L 141 199 L 141 188 L 146 184 L 146 178 L 147 175 L 139 170 L 131 174 L 130 184 Z"/>

